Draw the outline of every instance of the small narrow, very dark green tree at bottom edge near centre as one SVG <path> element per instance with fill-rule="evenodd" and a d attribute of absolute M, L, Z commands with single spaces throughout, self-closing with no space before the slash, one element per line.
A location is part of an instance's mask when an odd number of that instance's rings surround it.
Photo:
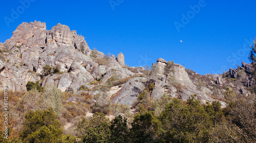
<path fill-rule="evenodd" d="M 130 142 L 129 129 L 127 127 L 127 119 L 123 119 L 121 115 L 117 116 L 110 126 L 111 139 L 110 142 Z"/>

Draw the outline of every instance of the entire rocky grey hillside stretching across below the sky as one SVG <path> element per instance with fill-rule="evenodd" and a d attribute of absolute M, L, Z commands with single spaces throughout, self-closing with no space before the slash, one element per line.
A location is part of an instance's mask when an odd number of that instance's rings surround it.
<path fill-rule="evenodd" d="M 166 74 L 167 62 L 161 58 L 152 69 L 126 67 L 121 52 L 115 58 L 92 50 L 83 36 L 60 23 L 46 30 L 45 22 L 23 22 L 10 39 L 0 43 L 0 49 L 0 90 L 6 86 L 13 91 L 27 90 L 30 81 L 41 87 L 54 84 L 61 91 L 79 93 L 83 89 L 96 95 L 103 84 L 111 83 L 112 103 L 132 105 L 151 85 L 150 97 L 155 99 L 165 94 L 186 100 L 197 94 L 202 103 L 218 100 L 225 106 L 227 87 L 246 97 L 254 83 L 252 66 L 245 63 L 222 75 L 199 75 L 179 64 Z"/>

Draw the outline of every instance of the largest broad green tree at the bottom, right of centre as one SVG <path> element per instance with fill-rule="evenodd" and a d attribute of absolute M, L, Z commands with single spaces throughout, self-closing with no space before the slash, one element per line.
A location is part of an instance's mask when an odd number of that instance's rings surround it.
<path fill-rule="evenodd" d="M 179 99 L 173 99 L 166 104 L 160 115 L 165 133 L 165 142 L 207 142 L 208 132 L 212 122 L 196 99 L 196 95 L 183 104 Z"/>

